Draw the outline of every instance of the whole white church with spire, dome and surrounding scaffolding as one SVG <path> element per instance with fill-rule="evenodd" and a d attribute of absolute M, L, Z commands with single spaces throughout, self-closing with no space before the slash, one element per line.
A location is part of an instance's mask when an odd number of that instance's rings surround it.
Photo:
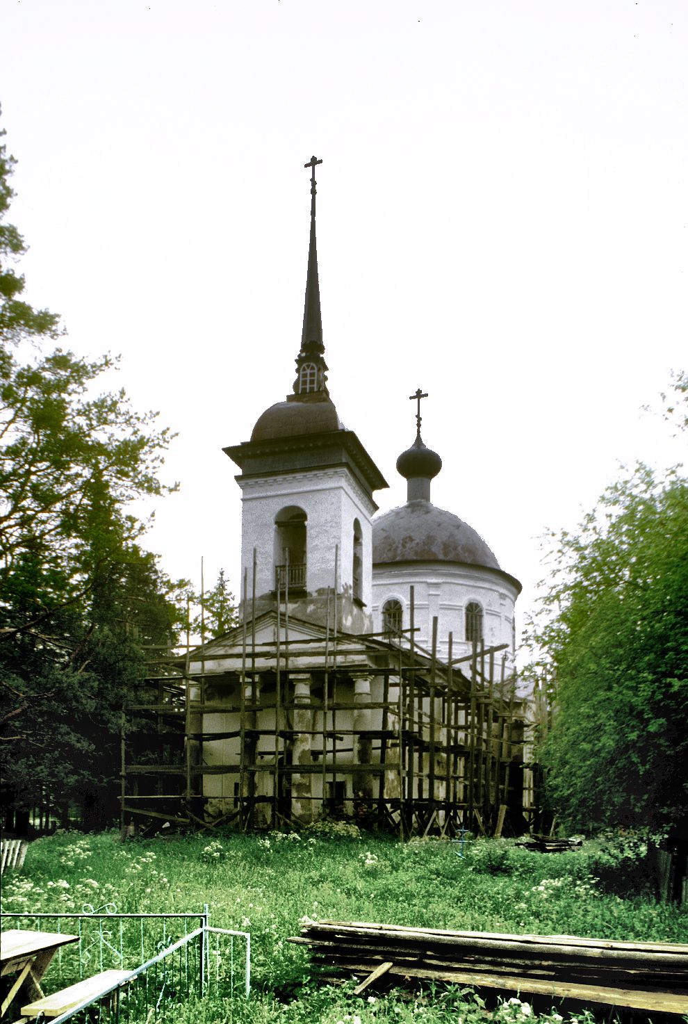
<path fill-rule="evenodd" d="M 224 449 L 240 471 L 241 623 L 183 665 L 170 659 L 130 709 L 123 823 L 153 814 L 284 829 L 334 815 L 403 836 L 522 830 L 520 584 L 432 504 L 442 462 L 421 438 L 420 389 L 416 438 L 396 463 L 407 501 L 378 512 L 386 480 L 328 390 L 319 163 L 305 165 L 310 242 L 292 392 Z M 157 760 L 145 753 L 153 735 Z"/>

